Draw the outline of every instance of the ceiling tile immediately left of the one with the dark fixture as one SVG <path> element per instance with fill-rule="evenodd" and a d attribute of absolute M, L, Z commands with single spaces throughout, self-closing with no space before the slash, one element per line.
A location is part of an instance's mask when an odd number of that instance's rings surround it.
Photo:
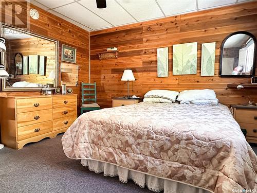
<path fill-rule="evenodd" d="M 63 7 L 56 8 L 54 11 L 57 11 L 91 29 L 112 27 L 111 24 L 78 3 L 68 4 Z"/>

